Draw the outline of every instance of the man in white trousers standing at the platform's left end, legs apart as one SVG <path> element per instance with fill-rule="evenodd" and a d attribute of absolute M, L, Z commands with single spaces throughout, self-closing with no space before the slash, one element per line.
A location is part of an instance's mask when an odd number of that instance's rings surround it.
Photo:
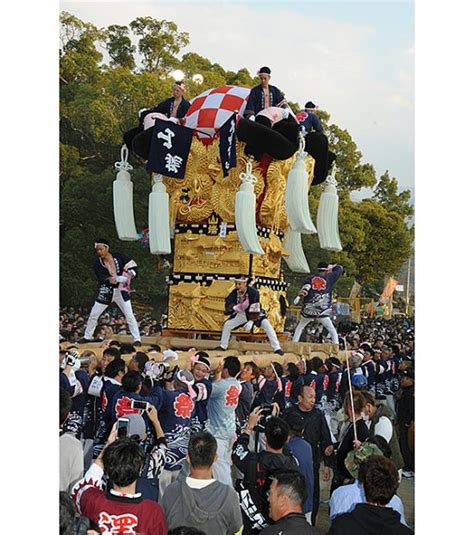
<path fill-rule="evenodd" d="M 141 345 L 140 330 L 130 301 L 130 283 L 138 275 L 137 263 L 126 254 L 111 252 L 109 242 L 104 239 L 97 240 L 94 249 L 98 256 L 94 271 L 99 281 L 99 292 L 87 320 L 84 337 L 79 342 L 86 343 L 94 339 L 99 316 L 115 303 L 127 320 L 133 344 Z"/>

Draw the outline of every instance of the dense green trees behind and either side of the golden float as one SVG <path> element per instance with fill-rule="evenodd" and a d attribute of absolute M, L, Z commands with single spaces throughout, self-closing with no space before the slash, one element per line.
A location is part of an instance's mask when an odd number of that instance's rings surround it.
<path fill-rule="evenodd" d="M 61 184 L 61 302 L 89 305 L 97 282 L 91 269 L 95 237 L 111 240 L 112 247 L 135 258 L 140 277 L 134 284 L 141 302 L 163 306 L 167 293 L 165 273 L 156 272 L 157 259 L 137 242 L 116 238 L 112 207 L 113 163 L 119 159 L 123 132 L 137 125 L 140 109 L 155 106 L 172 94 L 171 69 L 186 75 L 186 97 L 223 84 L 251 87 L 258 84 L 247 68 L 226 71 L 221 65 L 195 52 L 178 55 L 189 44 L 189 36 L 174 22 L 139 17 L 128 26 L 98 29 L 74 15 L 60 15 L 60 184 Z M 132 44 L 131 35 L 138 37 Z M 103 63 L 98 47 L 104 47 L 110 63 Z M 140 61 L 135 64 L 136 55 Z M 192 80 L 201 74 L 202 84 Z M 297 102 L 289 102 L 296 113 Z M 412 252 L 413 228 L 406 219 L 413 215 L 408 191 L 398 192 L 398 183 L 388 171 L 377 183 L 371 164 L 347 130 L 330 123 L 330 115 L 319 110 L 330 148 L 337 154 L 339 184 L 339 229 L 344 250 L 334 254 L 319 247 L 317 235 L 303 236 L 306 258 L 314 272 L 317 263 L 339 262 L 346 274 L 338 293 L 347 295 L 354 280 L 364 285 L 366 295 L 381 290 L 385 275 L 399 272 Z M 137 230 L 148 226 L 149 178 L 143 162 L 129 157 L 134 166 L 135 219 Z M 376 187 L 375 187 L 376 186 Z M 354 203 L 350 192 L 375 187 L 372 199 Z M 316 214 L 321 186 L 309 194 L 312 218 Z M 296 295 L 304 274 L 290 272 L 290 300 Z"/>

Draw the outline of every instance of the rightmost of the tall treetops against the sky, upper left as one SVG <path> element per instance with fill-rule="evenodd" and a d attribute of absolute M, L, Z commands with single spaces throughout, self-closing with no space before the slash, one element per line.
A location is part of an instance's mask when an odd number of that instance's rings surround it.
<path fill-rule="evenodd" d="M 130 23 L 132 32 L 139 36 L 138 50 L 147 71 L 166 75 L 179 63 L 179 51 L 189 44 L 189 34 L 179 32 L 174 22 L 153 17 L 137 17 Z"/>

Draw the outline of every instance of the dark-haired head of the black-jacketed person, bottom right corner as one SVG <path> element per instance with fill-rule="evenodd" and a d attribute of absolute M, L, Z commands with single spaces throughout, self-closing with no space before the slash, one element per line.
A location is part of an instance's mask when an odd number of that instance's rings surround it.
<path fill-rule="evenodd" d="M 382 455 L 372 455 L 359 468 L 367 503 L 387 505 L 397 492 L 399 479 L 395 464 Z"/>

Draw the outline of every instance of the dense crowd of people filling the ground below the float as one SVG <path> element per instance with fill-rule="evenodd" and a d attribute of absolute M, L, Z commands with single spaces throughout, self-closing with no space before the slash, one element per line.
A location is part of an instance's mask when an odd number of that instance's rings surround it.
<path fill-rule="evenodd" d="M 340 336 L 347 363 L 263 368 L 63 343 L 61 533 L 316 533 L 320 472 L 330 534 L 410 533 L 396 491 L 415 470 L 413 329 L 365 319 Z"/>

